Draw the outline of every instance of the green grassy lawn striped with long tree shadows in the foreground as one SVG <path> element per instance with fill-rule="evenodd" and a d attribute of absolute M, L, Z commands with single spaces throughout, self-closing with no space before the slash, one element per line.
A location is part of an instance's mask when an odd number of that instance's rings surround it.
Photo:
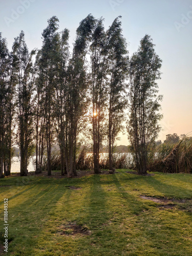
<path fill-rule="evenodd" d="M 1 244 L 8 255 L 192 255 L 192 176 L 112 175 L 0 180 Z M 77 188 L 77 189 L 74 189 Z"/>

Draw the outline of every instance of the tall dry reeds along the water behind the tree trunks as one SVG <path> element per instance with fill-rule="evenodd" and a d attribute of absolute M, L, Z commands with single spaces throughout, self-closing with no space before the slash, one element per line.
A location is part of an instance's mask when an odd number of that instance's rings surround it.
<path fill-rule="evenodd" d="M 162 173 L 192 173 L 192 137 L 185 137 L 176 144 L 163 143 L 152 147 L 147 155 L 148 170 Z M 134 157 L 131 153 L 114 153 L 113 167 L 116 169 L 135 169 Z M 76 168 L 93 169 L 93 154 L 82 147 L 77 153 Z M 109 169 L 109 156 L 100 154 L 99 168 Z M 52 152 L 51 169 L 60 170 L 60 152 Z M 42 170 L 47 170 L 47 156 L 42 161 Z"/>

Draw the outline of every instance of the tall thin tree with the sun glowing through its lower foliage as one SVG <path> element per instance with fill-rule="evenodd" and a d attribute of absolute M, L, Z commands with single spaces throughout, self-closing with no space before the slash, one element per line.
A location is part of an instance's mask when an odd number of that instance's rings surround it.
<path fill-rule="evenodd" d="M 93 161 L 94 173 L 99 173 L 99 151 L 103 136 L 105 136 L 104 121 L 106 118 L 106 33 L 103 19 L 97 20 L 92 36 L 91 52 L 91 95 L 93 110 Z"/>

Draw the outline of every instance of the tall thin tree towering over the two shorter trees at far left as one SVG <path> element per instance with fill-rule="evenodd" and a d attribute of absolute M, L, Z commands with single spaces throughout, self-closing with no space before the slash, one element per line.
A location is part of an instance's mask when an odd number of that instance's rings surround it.
<path fill-rule="evenodd" d="M 48 175 L 51 175 L 51 148 L 54 138 L 54 96 L 55 83 L 57 75 L 57 61 L 59 55 L 59 33 L 58 18 L 51 17 L 48 20 L 48 27 L 42 32 L 43 44 L 40 50 L 39 58 L 39 80 L 41 88 L 44 91 L 44 115 L 46 127 L 46 142 L 47 142 L 47 169 Z"/>

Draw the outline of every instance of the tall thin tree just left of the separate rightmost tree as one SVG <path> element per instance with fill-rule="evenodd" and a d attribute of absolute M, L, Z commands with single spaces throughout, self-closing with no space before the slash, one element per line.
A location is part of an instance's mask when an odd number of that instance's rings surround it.
<path fill-rule="evenodd" d="M 113 169 L 113 151 L 118 133 L 123 129 L 122 121 L 125 119 L 123 110 L 126 108 L 126 84 L 128 73 L 128 52 L 126 41 L 122 35 L 121 22 L 117 17 L 109 30 L 106 32 L 106 51 L 108 52 L 108 63 L 106 73 L 108 74 L 109 95 L 109 168 Z"/>

